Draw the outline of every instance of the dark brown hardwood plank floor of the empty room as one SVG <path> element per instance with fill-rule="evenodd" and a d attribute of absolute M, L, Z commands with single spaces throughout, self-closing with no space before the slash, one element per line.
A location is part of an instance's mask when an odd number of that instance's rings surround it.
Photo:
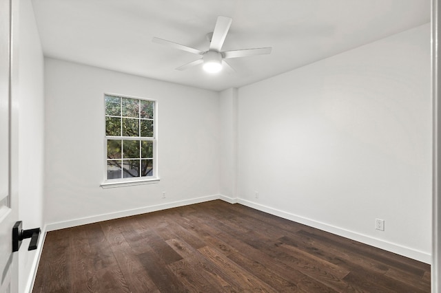
<path fill-rule="evenodd" d="M 430 265 L 216 200 L 48 232 L 33 292 L 430 292 Z"/>

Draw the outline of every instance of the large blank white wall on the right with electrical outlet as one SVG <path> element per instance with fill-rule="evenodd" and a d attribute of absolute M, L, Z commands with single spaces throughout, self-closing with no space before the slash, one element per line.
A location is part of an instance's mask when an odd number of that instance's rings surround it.
<path fill-rule="evenodd" d="M 239 202 L 430 262 L 430 88 L 429 24 L 241 87 Z"/>

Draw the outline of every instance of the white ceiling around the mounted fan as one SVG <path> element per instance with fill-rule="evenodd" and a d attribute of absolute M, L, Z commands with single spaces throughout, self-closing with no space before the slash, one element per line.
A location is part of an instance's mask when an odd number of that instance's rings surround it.
<path fill-rule="evenodd" d="M 430 0 L 33 0 L 45 56 L 220 91 L 241 87 L 430 21 Z M 234 58 L 236 73 L 176 67 L 199 50 L 218 15 L 233 22 L 222 50 L 272 47 Z"/>

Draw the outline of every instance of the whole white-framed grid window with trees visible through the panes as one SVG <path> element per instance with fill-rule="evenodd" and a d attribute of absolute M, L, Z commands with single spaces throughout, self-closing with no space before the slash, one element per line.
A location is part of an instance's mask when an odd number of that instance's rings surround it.
<path fill-rule="evenodd" d="M 157 180 L 156 101 L 105 94 L 105 185 Z"/>

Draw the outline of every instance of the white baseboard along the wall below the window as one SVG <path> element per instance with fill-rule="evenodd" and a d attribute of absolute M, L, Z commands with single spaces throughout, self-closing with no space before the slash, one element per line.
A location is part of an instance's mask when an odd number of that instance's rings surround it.
<path fill-rule="evenodd" d="M 178 202 L 168 202 L 166 204 L 157 204 L 154 206 L 144 206 L 142 208 L 134 208 L 132 210 L 121 210 L 115 213 L 107 213 L 102 215 L 95 215 L 91 217 L 83 217 L 79 219 L 72 219 L 69 221 L 60 221 L 57 223 L 48 224 L 47 231 L 70 228 L 74 226 L 81 226 L 85 224 L 96 223 L 98 221 L 107 221 L 110 219 L 118 219 L 122 217 L 130 217 L 134 215 L 141 215 L 145 213 L 152 213 L 158 210 L 166 210 L 167 208 L 177 208 L 179 206 L 188 206 L 189 204 L 199 204 L 201 202 L 209 202 L 210 200 L 220 199 L 220 195 L 208 195 L 205 197 L 196 197 L 194 199 L 185 199 Z"/>

